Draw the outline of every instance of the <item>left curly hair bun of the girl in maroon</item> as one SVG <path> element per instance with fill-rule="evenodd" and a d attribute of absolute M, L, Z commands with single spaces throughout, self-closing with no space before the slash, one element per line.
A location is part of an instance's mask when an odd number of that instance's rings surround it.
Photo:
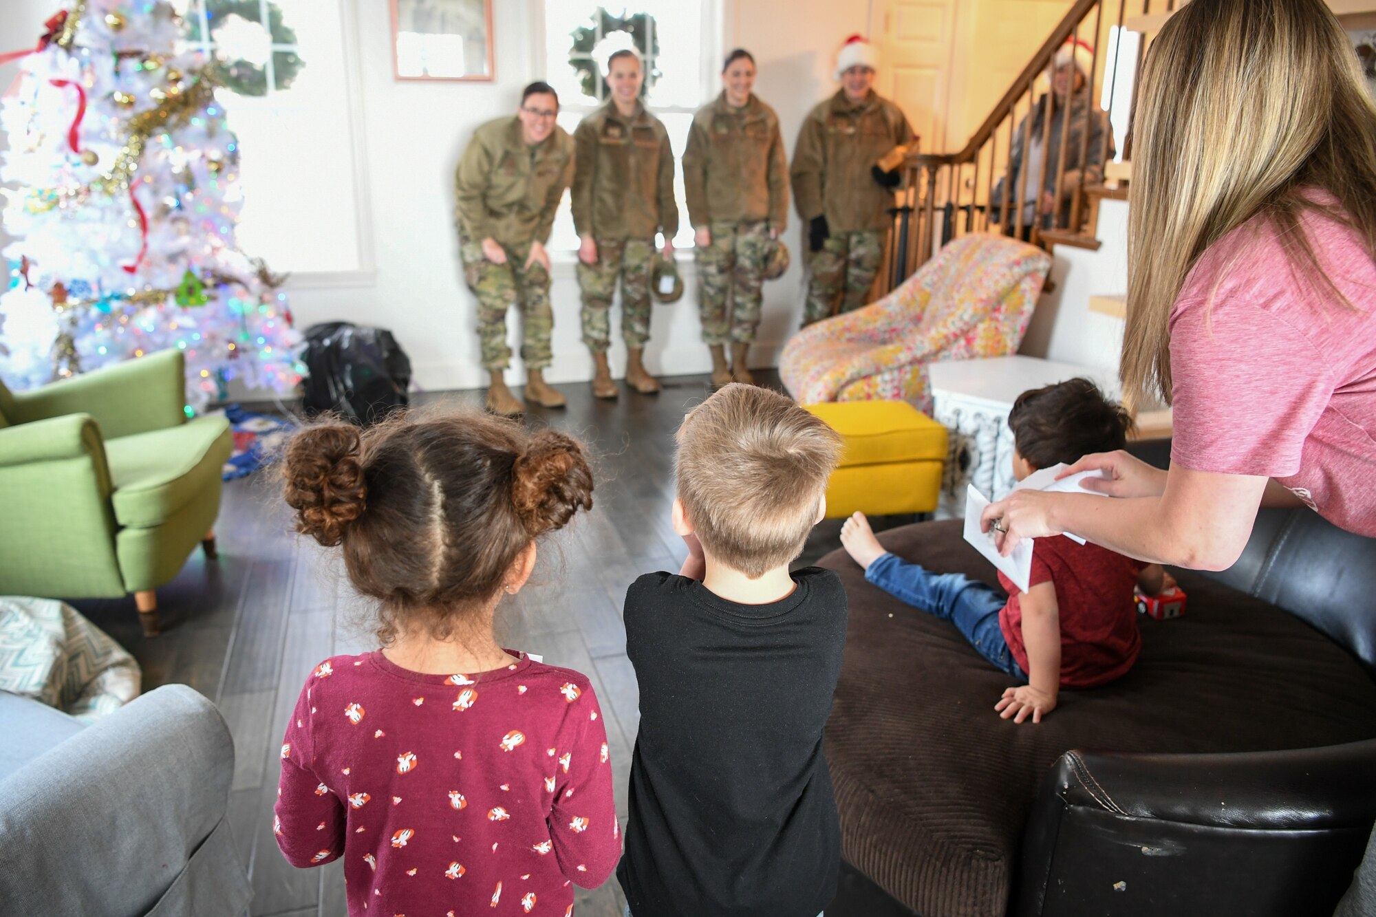
<path fill-rule="evenodd" d="M 286 503 L 296 509 L 296 530 L 326 548 L 344 538 L 367 497 L 362 439 L 352 424 L 307 427 L 286 446 Z"/>

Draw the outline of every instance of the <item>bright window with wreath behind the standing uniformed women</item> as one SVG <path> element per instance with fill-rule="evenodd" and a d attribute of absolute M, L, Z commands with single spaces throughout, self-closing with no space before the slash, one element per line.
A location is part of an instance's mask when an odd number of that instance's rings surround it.
<path fill-rule="evenodd" d="M 682 167 L 694 113 L 718 92 L 718 29 L 714 0 L 641 0 L 633 7 L 545 0 L 545 80 L 559 92 L 559 125 L 570 134 L 607 99 L 601 65 L 622 47 L 645 58 L 645 106 L 665 124 L 674 151 L 678 201 L 676 248 L 692 246 Z M 568 196 L 555 218 L 550 249 L 574 251 L 578 234 Z"/>

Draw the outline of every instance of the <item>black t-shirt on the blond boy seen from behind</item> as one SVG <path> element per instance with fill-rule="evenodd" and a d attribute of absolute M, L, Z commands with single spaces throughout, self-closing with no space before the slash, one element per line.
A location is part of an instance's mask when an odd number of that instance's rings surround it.
<path fill-rule="evenodd" d="M 670 573 L 626 591 L 640 735 L 616 877 L 634 917 L 813 917 L 835 896 L 841 829 L 821 731 L 846 593 L 830 570 L 793 580 L 769 604 Z"/>

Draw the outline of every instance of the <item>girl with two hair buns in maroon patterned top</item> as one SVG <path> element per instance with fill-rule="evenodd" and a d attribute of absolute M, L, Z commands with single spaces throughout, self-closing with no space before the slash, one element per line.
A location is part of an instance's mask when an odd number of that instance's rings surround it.
<path fill-rule="evenodd" d="M 348 911 L 563 914 L 621 856 L 588 679 L 504 650 L 502 595 L 592 508 L 578 442 L 476 412 L 325 421 L 282 463 L 296 527 L 340 547 L 381 649 L 322 661 L 282 739 L 274 832 L 293 866 L 343 858 Z M 453 911 L 451 911 L 453 913 Z M 502 911 L 506 913 L 506 911 Z"/>

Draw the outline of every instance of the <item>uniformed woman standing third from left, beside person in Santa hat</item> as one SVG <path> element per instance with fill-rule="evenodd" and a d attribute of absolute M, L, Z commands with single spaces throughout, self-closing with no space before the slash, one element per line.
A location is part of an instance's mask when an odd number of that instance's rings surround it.
<path fill-rule="evenodd" d="M 749 52 L 731 52 L 722 67 L 728 88 L 694 116 L 684 150 L 684 191 L 698 242 L 702 339 L 711 351 L 716 386 L 754 381 L 746 357 L 760 326 L 764 273 L 788 220 L 788 160 L 779 117 L 750 92 L 754 69 Z M 744 103 L 732 105 L 732 98 Z M 729 318 L 728 297 L 733 306 Z"/>

